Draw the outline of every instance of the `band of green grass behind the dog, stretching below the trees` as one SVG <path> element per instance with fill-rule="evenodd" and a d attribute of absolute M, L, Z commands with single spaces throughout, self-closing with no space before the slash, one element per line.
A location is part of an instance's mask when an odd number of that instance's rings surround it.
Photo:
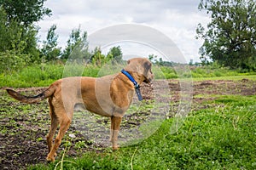
<path fill-rule="evenodd" d="M 108 68 L 110 67 L 110 68 Z M 11 73 L 0 72 L 0 87 L 12 88 L 30 88 L 30 87 L 48 87 L 50 83 L 55 82 L 62 77 L 86 76 L 101 77 L 108 72 L 117 72 L 121 70 L 121 65 L 107 65 L 102 68 L 94 65 L 52 65 L 41 64 L 28 66 L 21 71 Z M 193 77 L 194 81 L 202 80 L 241 80 L 243 77 L 249 77 L 256 80 L 256 73 L 239 73 L 238 71 L 230 71 L 224 68 L 212 69 L 210 67 L 191 68 L 191 72 L 182 72 L 177 76 L 176 71 L 171 67 L 154 66 L 155 79 L 185 78 Z"/>

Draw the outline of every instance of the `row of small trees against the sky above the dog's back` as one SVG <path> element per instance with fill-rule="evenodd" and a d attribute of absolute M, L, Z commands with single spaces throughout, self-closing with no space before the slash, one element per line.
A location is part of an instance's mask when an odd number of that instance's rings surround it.
<path fill-rule="evenodd" d="M 41 48 L 41 54 L 47 61 L 57 59 L 65 61 L 74 53 L 73 55 L 75 55 L 76 59 L 82 59 L 86 63 L 92 63 L 98 66 L 109 60 L 114 60 L 117 63 L 121 62 L 123 54 L 119 46 L 110 48 L 106 56 L 102 54 L 102 50 L 99 47 L 95 48 L 93 51 L 89 51 L 87 32 L 82 31 L 80 27 L 74 28 L 71 31 L 67 40 L 67 46 L 61 51 L 61 48 L 57 46 L 58 35 L 55 33 L 56 28 L 56 25 L 49 28 L 46 40 L 43 42 L 43 47 Z"/>

